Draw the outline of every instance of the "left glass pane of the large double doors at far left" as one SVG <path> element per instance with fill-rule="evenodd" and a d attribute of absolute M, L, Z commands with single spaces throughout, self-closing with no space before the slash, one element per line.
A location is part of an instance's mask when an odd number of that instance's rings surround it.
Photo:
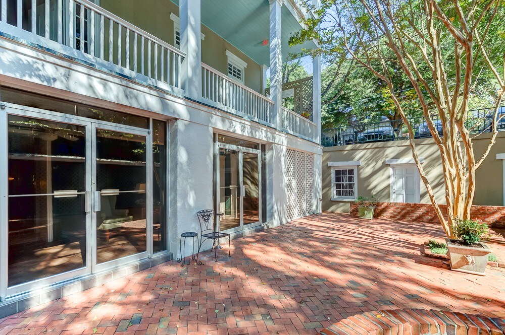
<path fill-rule="evenodd" d="M 8 286 L 86 267 L 86 134 L 8 116 Z"/>

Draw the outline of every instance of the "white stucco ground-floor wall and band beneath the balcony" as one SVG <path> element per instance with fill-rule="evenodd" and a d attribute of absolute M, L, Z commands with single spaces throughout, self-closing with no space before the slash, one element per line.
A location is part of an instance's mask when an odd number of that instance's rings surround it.
<path fill-rule="evenodd" d="M 179 256 L 180 234 L 199 232 L 196 212 L 213 208 L 214 132 L 266 144 L 269 226 L 287 221 L 284 159 L 288 148 L 314 154 L 314 192 L 320 193 L 321 146 L 186 100 L 180 95 L 148 88 L 4 38 L 0 38 L 0 85 L 137 115 L 171 119 L 169 246 L 175 258 Z M 206 248 L 210 248 L 210 243 Z"/>

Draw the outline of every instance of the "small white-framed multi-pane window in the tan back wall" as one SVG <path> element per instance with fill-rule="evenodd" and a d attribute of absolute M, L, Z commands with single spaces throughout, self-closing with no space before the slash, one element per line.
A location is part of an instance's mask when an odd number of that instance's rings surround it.
<path fill-rule="evenodd" d="M 358 196 L 358 166 L 359 161 L 353 162 L 330 162 L 331 167 L 331 199 L 332 200 L 355 200 Z"/>

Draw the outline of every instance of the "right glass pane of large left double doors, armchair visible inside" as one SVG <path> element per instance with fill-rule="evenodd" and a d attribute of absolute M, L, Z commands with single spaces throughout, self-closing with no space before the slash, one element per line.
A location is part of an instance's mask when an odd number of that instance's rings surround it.
<path fill-rule="evenodd" d="M 145 252 L 146 137 L 96 129 L 96 263 Z"/>

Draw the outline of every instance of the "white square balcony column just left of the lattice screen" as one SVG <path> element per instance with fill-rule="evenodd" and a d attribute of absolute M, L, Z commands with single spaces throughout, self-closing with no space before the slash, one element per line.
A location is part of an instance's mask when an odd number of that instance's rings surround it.
<path fill-rule="evenodd" d="M 275 102 L 273 123 L 282 128 L 282 4 L 270 0 L 270 99 Z"/>

